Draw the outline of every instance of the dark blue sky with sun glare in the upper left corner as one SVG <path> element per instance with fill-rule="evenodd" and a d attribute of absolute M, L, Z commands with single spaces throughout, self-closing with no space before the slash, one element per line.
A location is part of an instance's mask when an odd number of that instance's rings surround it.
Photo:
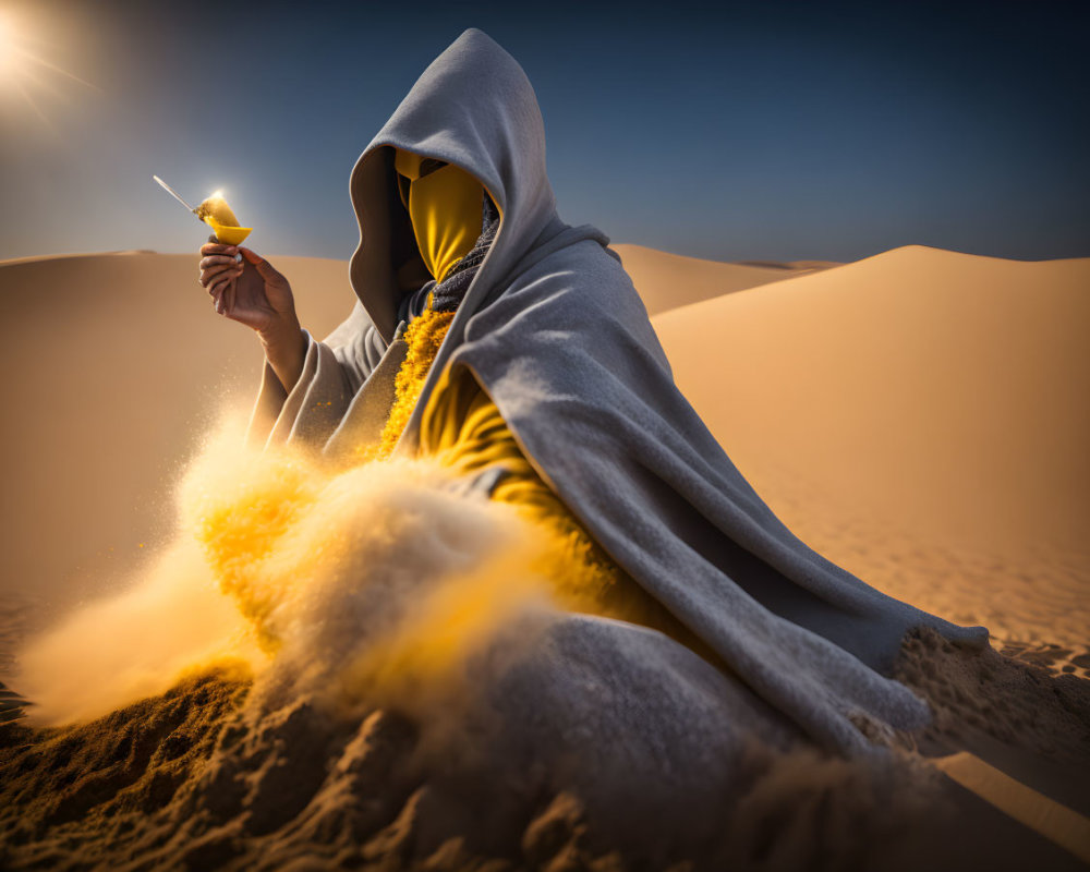
<path fill-rule="evenodd" d="M 468 26 L 537 92 L 561 217 L 615 242 L 1090 256 L 1088 3 L 516 5 L 0 2 L 89 83 L 0 62 L 0 258 L 195 251 L 153 172 L 225 189 L 259 251 L 347 258 L 355 158 Z"/>

